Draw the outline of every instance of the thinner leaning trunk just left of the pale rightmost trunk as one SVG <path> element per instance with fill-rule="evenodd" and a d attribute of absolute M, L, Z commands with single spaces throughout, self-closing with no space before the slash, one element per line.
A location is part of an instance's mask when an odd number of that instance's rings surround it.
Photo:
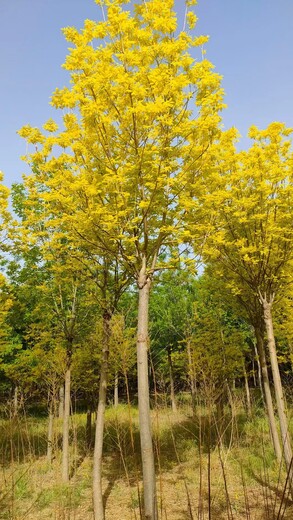
<path fill-rule="evenodd" d="M 275 414 L 274 414 L 274 406 L 273 406 L 273 400 L 272 400 L 272 394 L 271 394 L 271 388 L 270 388 L 270 382 L 269 382 L 268 367 L 267 367 L 267 362 L 266 362 L 263 337 L 262 337 L 261 331 L 259 330 L 258 327 L 255 327 L 254 330 L 255 330 L 255 337 L 256 337 L 256 347 L 257 347 L 257 351 L 258 351 L 258 355 L 259 355 L 259 362 L 260 362 L 260 366 L 261 366 L 263 388 L 264 388 L 264 395 L 265 395 L 265 404 L 266 404 L 266 411 L 267 411 L 267 415 L 268 415 L 269 427 L 270 427 L 271 437 L 272 437 L 273 446 L 274 446 L 274 450 L 275 450 L 275 455 L 277 457 L 277 460 L 280 462 L 282 459 L 282 449 L 281 449 L 281 445 L 280 445 L 280 439 L 279 439 L 279 434 L 278 434 L 276 419 L 275 419 Z"/>

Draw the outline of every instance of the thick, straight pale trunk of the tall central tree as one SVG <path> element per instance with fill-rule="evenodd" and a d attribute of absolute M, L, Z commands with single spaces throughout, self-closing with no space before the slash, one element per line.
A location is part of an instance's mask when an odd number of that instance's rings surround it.
<path fill-rule="evenodd" d="M 157 519 L 155 461 L 152 443 L 148 379 L 148 309 L 151 280 L 142 268 L 138 280 L 137 386 L 143 472 L 144 520 Z"/>

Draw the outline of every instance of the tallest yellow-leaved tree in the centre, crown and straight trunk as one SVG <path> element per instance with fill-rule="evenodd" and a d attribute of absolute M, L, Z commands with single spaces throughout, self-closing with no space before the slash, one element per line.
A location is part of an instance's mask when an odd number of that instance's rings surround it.
<path fill-rule="evenodd" d="M 205 172 L 205 156 L 219 138 L 220 77 L 204 58 L 207 37 L 193 37 L 195 2 L 188 0 L 178 31 L 173 0 L 134 3 L 98 0 L 104 21 L 64 30 L 73 45 L 64 67 L 71 87 L 52 104 L 65 112 L 45 135 L 20 134 L 37 146 L 27 180 L 51 214 L 79 244 L 118 259 L 139 293 L 137 366 L 144 514 L 157 518 L 148 384 L 148 305 L 161 252 L 177 241 L 188 202 Z M 105 10 L 104 10 L 105 8 Z M 198 52 L 198 60 L 191 49 Z M 59 152 L 57 149 L 59 148 Z M 188 187 L 188 189 L 187 189 Z M 191 202 L 192 204 L 193 202 Z M 57 216 L 58 215 L 58 216 Z M 60 217 L 60 215 L 62 215 Z M 104 518 L 95 499 L 95 518 Z"/>

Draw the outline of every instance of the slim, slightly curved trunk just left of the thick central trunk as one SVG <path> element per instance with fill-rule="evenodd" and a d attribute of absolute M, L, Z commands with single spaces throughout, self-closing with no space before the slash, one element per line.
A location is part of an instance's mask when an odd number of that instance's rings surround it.
<path fill-rule="evenodd" d="M 96 419 L 95 449 L 93 460 L 93 503 L 94 519 L 104 520 L 104 504 L 102 491 L 102 455 L 104 440 L 105 408 L 108 382 L 108 359 L 110 339 L 110 314 L 103 316 L 103 359 L 100 374 L 99 402 Z"/>

